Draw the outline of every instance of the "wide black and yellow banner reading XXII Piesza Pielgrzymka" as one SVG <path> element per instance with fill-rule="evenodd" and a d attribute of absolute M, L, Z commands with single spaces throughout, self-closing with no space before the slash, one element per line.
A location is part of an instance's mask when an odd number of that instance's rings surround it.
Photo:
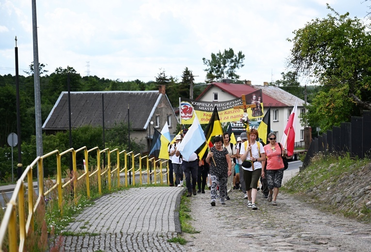
<path fill-rule="evenodd" d="M 196 101 L 187 98 L 179 98 L 179 112 L 181 124 L 192 124 L 194 115 L 197 115 L 200 124 L 209 123 L 214 107 L 218 109 L 220 122 L 239 121 L 243 114 L 243 105 L 254 104 L 247 109 L 249 118 L 260 118 L 263 116 L 263 96 L 261 89 L 245 95 L 245 104 L 242 98 L 229 101 Z M 235 109 L 241 106 L 241 109 Z"/>

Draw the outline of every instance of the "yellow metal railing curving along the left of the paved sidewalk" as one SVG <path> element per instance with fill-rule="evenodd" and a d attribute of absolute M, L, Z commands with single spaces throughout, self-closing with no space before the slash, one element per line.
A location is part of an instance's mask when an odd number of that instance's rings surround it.
<path fill-rule="evenodd" d="M 77 177 L 77 162 L 76 162 L 76 154 L 78 152 L 83 151 L 84 158 L 85 158 L 85 166 L 84 166 L 84 172 L 80 177 Z M 89 153 L 95 151 L 97 153 L 97 169 L 89 174 Z M 72 168 L 73 172 L 70 174 L 69 178 L 65 179 L 65 183 L 63 183 L 62 178 L 62 167 L 61 167 L 61 158 L 66 155 L 67 153 L 72 154 Z M 107 167 L 104 168 L 103 172 L 101 169 L 101 159 L 100 156 L 102 153 L 107 153 Z M 111 154 L 115 153 L 116 155 L 116 164 L 114 167 L 111 166 Z M 43 174 L 43 160 L 54 156 L 56 157 L 56 181 L 55 184 L 49 188 L 46 192 L 44 192 L 44 174 Z M 120 157 L 123 157 L 124 159 L 124 166 L 120 166 Z M 128 167 L 128 161 L 130 167 Z M 135 161 L 137 161 L 137 169 L 135 166 Z M 38 198 L 36 202 L 33 204 L 32 199 L 32 190 L 33 190 L 33 181 L 32 181 L 32 169 L 35 166 L 38 166 Z M 150 168 L 153 167 L 153 170 L 151 171 Z M 145 168 L 145 169 L 144 169 Z M 162 169 L 165 168 L 166 172 L 162 172 Z M 112 170 L 111 170 L 112 169 Z M 136 169 L 136 170 L 135 170 Z M 159 183 L 163 184 L 163 175 L 167 176 L 167 181 L 169 181 L 169 165 L 168 161 L 162 161 L 156 160 L 155 158 L 149 158 L 148 156 L 141 156 L 140 153 L 134 154 L 132 151 L 126 152 L 119 151 L 118 149 L 110 150 L 109 148 L 106 148 L 104 150 L 99 150 L 98 147 L 95 147 L 93 149 L 87 150 L 86 147 L 82 147 L 78 150 L 74 150 L 73 148 L 70 148 L 66 151 L 59 152 L 58 150 L 51 151 L 41 157 L 37 157 L 31 165 L 29 165 L 23 172 L 22 176 L 19 178 L 19 180 L 16 183 L 16 187 L 14 189 L 13 195 L 10 199 L 10 201 L 7 203 L 7 207 L 4 213 L 4 217 L 1 220 L 0 225 L 0 252 L 3 251 L 3 242 L 6 234 L 8 234 L 8 247 L 7 250 L 10 252 L 17 251 L 24 251 L 25 243 L 27 240 L 27 234 L 29 231 L 34 231 L 34 213 L 37 209 L 37 206 L 39 205 L 41 200 L 44 200 L 43 196 L 47 196 L 50 192 L 57 190 L 58 193 L 58 206 L 61 211 L 61 214 L 63 214 L 63 208 L 62 208 L 62 202 L 63 202 L 63 190 L 67 185 L 70 185 L 72 182 L 72 188 L 73 188 L 73 195 L 74 195 L 74 201 L 75 204 L 78 202 L 78 181 L 85 179 L 86 180 L 86 195 L 88 198 L 90 198 L 90 178 L 92 176 L 97 176 L 97 183 L 98 183 L 98 193 L 99 195 L 102 194 L 102 181 L 101 177 L 102 175 L 107 176 L 108 180 L 108 189 L 112 190 L 112 179 L 117 180 L 116 187 L 120 187 L 120 173 L 124 173 L 124 180 L 125 180 L 125 186 L 129 186 L 128 179 L 131 180 L 131 184 L 135 185 L 135 175 L 139 175 L 139 184 L 142 185 L 142 175 L 147 174 L 147 181 L 146 184 L 151 183 L 158 183 L 157 182 L 157 176 L 160 176 Z M 128 176 L 129 174 L 129 176 Z M 153 181 L 152 181 L 153 176 Z M 25 180 L 27 177 L 27 185 L 28 185 L 28 215 L 26 219 L 25 215 Z M 18 211 L 17 211 L 18 210 Z M 18 216 L 17 216 L 18 213 Z M 18 224 L 17 224 L 18 223 Z M 19 229 L 17 228 L 17 225 L 19 225 Z M 17 232 L 18 230 L 18 232 Z M 8 231 L 8 232 L 7 232 Z M 19 244 L 18 244 L 19 242 Z"/>

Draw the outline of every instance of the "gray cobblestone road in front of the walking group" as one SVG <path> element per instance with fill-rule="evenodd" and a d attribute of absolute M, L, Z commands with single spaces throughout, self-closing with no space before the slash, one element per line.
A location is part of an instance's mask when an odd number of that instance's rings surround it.
<path fill-rule="evenodd" d="M 210 194 L 192 197 L 193 227 L 183 234 L 187 251 L 371 251 L 371 225 L 313 208 L 280 193 L 273 206 L 258 192 L 258 210 L 249 210 L 242 192 L 226 205 L 210 205 Z"/>

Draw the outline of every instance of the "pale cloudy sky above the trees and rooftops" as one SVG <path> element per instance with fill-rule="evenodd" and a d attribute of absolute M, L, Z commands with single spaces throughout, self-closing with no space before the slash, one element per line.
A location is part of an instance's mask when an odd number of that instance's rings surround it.
<path fill-rule="evenodd" d="M 48 74 L 73 67 L 81 76 L 155 81 L 181 78 L 185 67 L 204 82 L 202 58 L 232 48 L 245 55 L 240 80 L 281 79 L 293 31 L 330 10 L 364 18 L 364 0 L 44 0 L 36 1 L 39 62 Z M 32 1 L 0 0 L 0 75 L 33 61 Z"/>

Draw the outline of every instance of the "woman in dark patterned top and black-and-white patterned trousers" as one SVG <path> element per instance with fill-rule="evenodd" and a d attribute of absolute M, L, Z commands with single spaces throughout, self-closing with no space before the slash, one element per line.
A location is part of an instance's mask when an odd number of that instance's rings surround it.
<path fill-rule="evenodd" d="M 214 146 L 211 147 L 206 156 L 206 162 L 210 164 L 211 205 L 215 206 L 216 186 L 218 184 L 220 190 L 220 203 L 224 205 L 226 204 L 224 200 L 227 197 L 227 178 L 231 175 L 231 162 L 228 151 L 223 147 L 221 136 L 217 135 L 214 137 Z"/>

